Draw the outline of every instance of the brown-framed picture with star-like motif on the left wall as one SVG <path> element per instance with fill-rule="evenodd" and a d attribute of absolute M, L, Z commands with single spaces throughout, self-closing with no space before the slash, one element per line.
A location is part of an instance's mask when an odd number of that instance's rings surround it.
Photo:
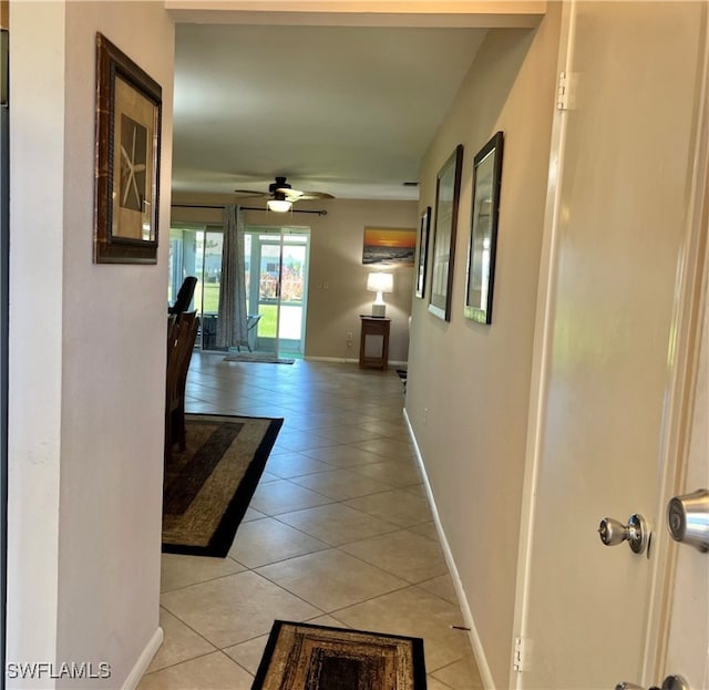
<path fill-rule="evenodd" d="M 156 264 L 162 89 L 96 34 L 94 261 Z"/>

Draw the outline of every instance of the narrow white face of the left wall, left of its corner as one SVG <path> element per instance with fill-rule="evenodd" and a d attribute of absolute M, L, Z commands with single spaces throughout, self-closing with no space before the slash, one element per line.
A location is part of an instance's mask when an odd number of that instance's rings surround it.
<path fill-rule="evenodd" d="M 12 662 L 51 660 L 56 646 L 64 11 L 60 3 L 12 3 L 10 10 L 7 655 Z"/>

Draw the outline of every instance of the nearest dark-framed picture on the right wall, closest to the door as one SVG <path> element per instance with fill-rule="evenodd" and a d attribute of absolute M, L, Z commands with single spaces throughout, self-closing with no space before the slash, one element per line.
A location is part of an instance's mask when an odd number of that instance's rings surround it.
<path fill-rule="evenodd" d="M 503 133 L 497 132 L 473 159 L 473 212 L 467 248 L 465 317 L 480 323 L 492 322 L 502 148 Z"/>

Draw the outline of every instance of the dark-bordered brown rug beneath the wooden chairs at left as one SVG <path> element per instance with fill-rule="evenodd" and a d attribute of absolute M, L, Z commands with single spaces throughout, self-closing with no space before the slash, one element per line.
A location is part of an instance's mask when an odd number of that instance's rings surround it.
<path fill-rule="evenodd" d="M 185 415 L 163 485 L 163 552 L 225 557 L 282 419 Z"/>

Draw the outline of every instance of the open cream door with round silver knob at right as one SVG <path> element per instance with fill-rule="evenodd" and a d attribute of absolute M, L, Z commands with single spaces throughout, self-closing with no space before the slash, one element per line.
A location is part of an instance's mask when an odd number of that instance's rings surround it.
<path fill-rule="evenodd" d="M 516 684 L 647 687 L 661 682 L 650 678 L 662 635 L 653 606 L 696 261 L 707 7 L 583 1 L 565 12 L 571 100 L 552 179 Z M 654 532 L 649 554 L 600 542 L 602 518 L 633 513 Z"/>

